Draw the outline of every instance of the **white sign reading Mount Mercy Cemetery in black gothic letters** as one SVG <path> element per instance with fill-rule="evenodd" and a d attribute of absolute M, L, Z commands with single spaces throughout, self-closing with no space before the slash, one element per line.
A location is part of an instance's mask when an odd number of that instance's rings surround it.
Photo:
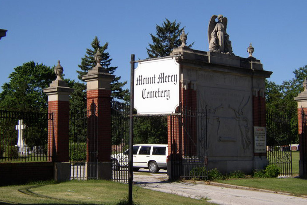
<path fill-rule="evenodd" d="M 143 61 L 134 71 L 138 114 L 171 114 L 179 106 L 179 64 L 172 57 Z"/>

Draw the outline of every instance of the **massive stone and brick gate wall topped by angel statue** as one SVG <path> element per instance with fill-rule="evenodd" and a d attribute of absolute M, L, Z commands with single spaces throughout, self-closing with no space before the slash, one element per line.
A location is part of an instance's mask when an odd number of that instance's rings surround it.
<path fill-rule="evenodd" d="M 181 68 L 180 103 L 206 110 L 206 124 L 196 130 L 197 154 L 206 153 L 208 169 L 251 173 L 267 164 L 266 150 L 255 149 L 254 129 L 266 127 L 265 79 L 272 72 L 263 70 L 260 60 L 252 56 L 251 44 L 249 57 L 235 56 L 226 28 L 227 18 L 214 15 L 208 27 L 208 52 L 180 46 L 170 56 Z"/>

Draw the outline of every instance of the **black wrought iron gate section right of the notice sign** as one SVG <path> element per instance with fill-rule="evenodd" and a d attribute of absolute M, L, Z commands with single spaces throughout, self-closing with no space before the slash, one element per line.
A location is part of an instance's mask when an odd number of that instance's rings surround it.
<path fill-rule="evenodd" d="M 292 176 L 292 152 L 290 116 L 280 116 L 274 112 L 266 113 L 266 145 L 269 164 L 281 169 L 281 175 Z"/>

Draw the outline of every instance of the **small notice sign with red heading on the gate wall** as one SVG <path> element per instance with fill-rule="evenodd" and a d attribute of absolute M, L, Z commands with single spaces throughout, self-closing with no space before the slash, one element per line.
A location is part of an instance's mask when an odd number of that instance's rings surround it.
<path fill-rule="evenodd" d="M 266 152 L 266 127 L 254 126 L 255 153 Z"/>

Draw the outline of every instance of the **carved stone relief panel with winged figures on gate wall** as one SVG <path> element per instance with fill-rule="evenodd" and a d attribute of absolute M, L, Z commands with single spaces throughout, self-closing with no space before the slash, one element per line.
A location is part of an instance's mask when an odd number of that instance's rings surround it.
<path fill-rule="evenodd" d="M 252 155 L 250 91 L 199 86 L 198 103 L 207 110 L 209 156 Z"/>

